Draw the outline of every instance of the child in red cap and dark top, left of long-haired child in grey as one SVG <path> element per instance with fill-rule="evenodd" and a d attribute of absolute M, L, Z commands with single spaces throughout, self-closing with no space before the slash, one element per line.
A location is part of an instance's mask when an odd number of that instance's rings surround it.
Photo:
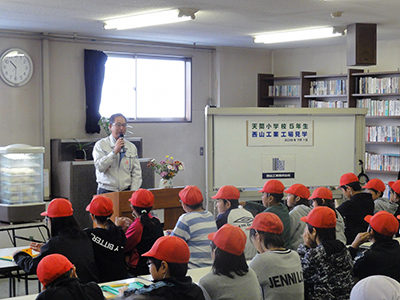
<path fill-rule="evenodd" d="M 160 237 L 142 256 L 147 259 L 154 283 L 140 289 L 125 290 L 121 299 L 131 295 L 149 295 L 166 300 L 204 300 L 201 288 L 186 276 L 190 251 L 184 240 L 175 236 Z"/>

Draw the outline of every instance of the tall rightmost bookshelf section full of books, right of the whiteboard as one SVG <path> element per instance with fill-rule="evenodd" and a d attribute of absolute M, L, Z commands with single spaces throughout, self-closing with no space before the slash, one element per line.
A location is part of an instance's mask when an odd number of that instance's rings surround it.
<path fill-rule="evenodd" d="M 400 170 L 400 72 L 353 73 L 350 98 L 368 109 L 365 120 L 365 170 L 384 182 Z"/>

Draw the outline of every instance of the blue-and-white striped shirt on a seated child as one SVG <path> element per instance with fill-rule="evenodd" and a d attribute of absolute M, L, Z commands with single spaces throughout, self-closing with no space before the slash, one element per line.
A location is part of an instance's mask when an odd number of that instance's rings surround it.
<path fill-rule="evenodd" d="M 214 216 L 209 211 L 190 212 L 179 217 L 171 235 L 186 241 L 190 250 L 189 268 L 212 265 L 208 234 L 217 231 Z"/>

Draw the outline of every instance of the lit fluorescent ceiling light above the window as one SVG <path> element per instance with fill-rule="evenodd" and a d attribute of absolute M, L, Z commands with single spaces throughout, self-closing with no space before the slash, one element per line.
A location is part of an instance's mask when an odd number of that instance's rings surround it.
<path fill-rule="evenodd" d="M 131 29 L 195 19 L 196 9 L 171 9 L 104 21 L 104 29 Z"/>

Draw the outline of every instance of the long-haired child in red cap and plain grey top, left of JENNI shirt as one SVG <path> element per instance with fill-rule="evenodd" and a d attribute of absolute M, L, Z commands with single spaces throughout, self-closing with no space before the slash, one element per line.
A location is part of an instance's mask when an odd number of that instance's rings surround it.
<path fill-rule="evenodd" d="M 244 257 L 246 234 L 237 226 L 225 224 L 208 235 L 212 241 L 212 271 L 199 280 L 211 299 L 259 300 L 261 290 L 256 273 Z"/>

